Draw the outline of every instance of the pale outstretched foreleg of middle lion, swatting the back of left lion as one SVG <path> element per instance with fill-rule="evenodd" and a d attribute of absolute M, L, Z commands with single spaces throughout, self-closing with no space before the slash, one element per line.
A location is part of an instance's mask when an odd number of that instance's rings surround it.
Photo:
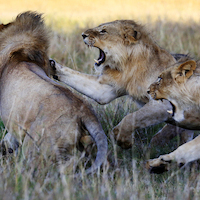
<path fill-rule="evenodd" d="M 113 86 L 105 81 L 102 82 L 102 78 L 99 78 L 99 76 L 78 72 L 60 65 L 54 60 L 50 60 L 50 65 L 54 69 L 51 70 L 54 71 L 52 75 L 56 76 L 59 81 L 94 99 L 99 104 L 107 104 L 121 96 Z"/>

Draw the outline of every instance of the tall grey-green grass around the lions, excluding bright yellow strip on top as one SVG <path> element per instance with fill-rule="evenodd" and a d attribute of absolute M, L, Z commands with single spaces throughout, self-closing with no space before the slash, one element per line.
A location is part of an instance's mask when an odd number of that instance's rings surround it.
<path fill-rule="evenodd" d="M 174 53 L 190 53 L 199 58 L 200 25 L 156 21 L 149 23 L 150 32 L 160 46 Z M 73 33 L 52 31 L 50 56 L 76 70 L 94 73 L 93 58 L 98 52 L 88 49 L 81 38 L 82 28 Z M 177 140 L 165 146 L 148 150 L 149 141 L 162 125 L 153 126 L 135 133 L 135 145 L 123 150 L 111 137 L 111 129 L 126 114 L 135 110 L 131 99 L 119 98 L 108 105 L 100 106 L 85 96 L 95 110 L 108 136 L 107 162 L 94 175 L 73 178 L 60 167 L 50 166 L 35 169 L 32 163 L 23 160 L 20 153 L 0 159 L 1 199 L 199 199 L 200 176 L 198 165 L 190 168 L 173 168 L 161 175 L 149 174 L 145 160 L 150 156 L 168 153 L 177 147 Z"/>

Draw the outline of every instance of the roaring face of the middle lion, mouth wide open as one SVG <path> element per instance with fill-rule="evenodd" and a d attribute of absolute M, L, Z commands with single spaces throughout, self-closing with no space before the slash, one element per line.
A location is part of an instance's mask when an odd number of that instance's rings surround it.
<path fill-rule="evenodd" d="M 95 67 L 119 68 L 141 38 L 142 27 L 131 20 L 118 20 L 101 24 L 82 33 L 86 45 L 99 49 Z"/>

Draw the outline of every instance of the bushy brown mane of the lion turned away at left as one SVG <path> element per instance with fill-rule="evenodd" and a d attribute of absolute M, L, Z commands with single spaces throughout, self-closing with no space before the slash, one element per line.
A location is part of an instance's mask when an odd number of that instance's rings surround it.
<path fill-rule="evenodd" d="M 1 27 L 0 66 L 15 57 L 39 66 L 47 64 L 49 33 L 41 14 L 24 12 L 15 21 Z"/>

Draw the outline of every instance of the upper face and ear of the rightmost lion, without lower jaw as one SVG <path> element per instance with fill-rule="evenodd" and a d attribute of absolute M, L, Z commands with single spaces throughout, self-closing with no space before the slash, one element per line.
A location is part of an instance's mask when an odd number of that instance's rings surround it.
<path fill-rule="evenodd" d="M 173 101 L 178 99 L 181 96 L 181 89 L 185 87 L 195 68 L 196 62 L 193 60 L 168 68 L 160 74 L 156 82 L 150 85 L 148 93 L 155 100 L 168 99 Z"/>

